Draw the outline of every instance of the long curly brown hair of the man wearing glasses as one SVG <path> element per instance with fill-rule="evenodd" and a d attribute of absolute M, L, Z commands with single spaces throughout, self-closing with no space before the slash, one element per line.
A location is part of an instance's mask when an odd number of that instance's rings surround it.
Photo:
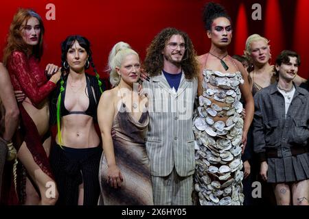
<path fill-rule="evenodd" d="M 147 54 L 144 61 L 143 68 L 150 75 L 150 77 L 161 75 L 163 69 L 163 54 L 162 51 L 166 43 L 173 35 L 180 35 L 185 40 L 185 54 L 181 61 L 181 68 L 185 73 L 186 79 L 193 79 L 198 75 L 198 62 L 196 60 L 196 51 L 189 36 L 183 31 L 168 27 L 163 29 L 152 40 L 150 46 L 147 48 Z"/>

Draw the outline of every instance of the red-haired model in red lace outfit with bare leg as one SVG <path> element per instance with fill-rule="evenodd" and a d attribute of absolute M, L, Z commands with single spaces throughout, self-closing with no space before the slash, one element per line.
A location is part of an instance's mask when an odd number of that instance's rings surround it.
<path fill-rule="evenodd" d="M 48 80 L 39 66 L 43 54 L 43 34 L 41 17 L 33 10 L 20 9 L 10 25 L 3 55 L 14 90 L 21 90 L 26 96 L 19 102 L 24 141 L 20 146 L 15 146 L 29 178 L 25 179 L 25 174 L 14 177 L 15 188 L 21 188 L 18 191 L 19 203 L 26 205 L 54 205 L 58 197 L 47 158 L 51 142 L 47 96 L 56 88 L 61 73 L 57 66 L 48 64 L 45 72 L 54 74 Z M 55 191 L 51 196 L 46 196 L 47 183 L 50 182 L 54 183 Z M 39 195 L 34 187 L 38 188 Z"/>

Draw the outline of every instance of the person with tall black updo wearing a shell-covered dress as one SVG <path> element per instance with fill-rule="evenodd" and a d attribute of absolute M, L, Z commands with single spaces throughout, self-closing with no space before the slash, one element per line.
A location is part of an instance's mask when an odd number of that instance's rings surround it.
<path fill-rule="evenodd" d="M 197 143 L 194 190 L 201 205 L 242 205 L 241 153 L 253 119 L 253 97 L 244 67 L 227 52 L 231 18 L 221 5 L 208 3 L 203 21 L 211 48 L 198 57 L 201 73 L 193 127 Z M 241 96 L 246 103 L 244 117 Z"/>

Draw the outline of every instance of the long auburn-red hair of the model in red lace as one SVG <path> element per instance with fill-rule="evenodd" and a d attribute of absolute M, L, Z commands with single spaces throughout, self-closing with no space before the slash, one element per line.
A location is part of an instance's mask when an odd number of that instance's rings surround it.
<path fill-rule="evenodd" d="M 39 41 L 36 46 L 32 48 L 30 51 L 30 47 L 27 46 L 25 41 L 23 40 L 23 36 L 21 36 L 21 31 L 23 29 L 24 21 L 27 21 L 30 18 L 37 18 L 38 23 L 40 23 L 41 34 L 38 37 Z M 43 34 L 44 34 L 44 26 L 41 16 L 39 16 L 34 10 L 20 8 L 16 14 L 14 15 L 13 21 L 10 25 L 10 30 L 8 33 L 7 44 L 5 49 L 3 50 L 3 64 L 6 65 L 8 62 L 8 57 L 10 57 L 12 51 L 22 51 L 25 54 L 32 54 L 38 60 L 41 59 L 43 55 Z"/>

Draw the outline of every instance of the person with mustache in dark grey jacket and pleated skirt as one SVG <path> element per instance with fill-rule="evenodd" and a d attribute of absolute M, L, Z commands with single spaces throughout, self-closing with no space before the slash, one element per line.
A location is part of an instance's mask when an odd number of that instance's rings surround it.
<path fill-rule="evenodd" d="M 299 64 L 297 53 L 282 51 L 275 62 L 279 80 L 254 96 L 254 151 L 277 205 L 308 205 L 309 199 L 309 93 L 293 83 Z"/>

